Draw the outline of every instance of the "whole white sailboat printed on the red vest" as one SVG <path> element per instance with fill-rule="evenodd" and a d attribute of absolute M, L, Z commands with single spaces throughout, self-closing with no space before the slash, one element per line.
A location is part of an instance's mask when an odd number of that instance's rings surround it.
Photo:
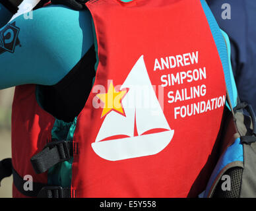
<path fill-rule="evenodd" d="M 147 87 L 151 98 L 150 104 L 154 105 L 146 108 L 138 105 L 138 101 L 134 97 L 138 90 L 134 84 Z M 92 143 L 94 152 L 101 158 L 110 161 L 158 154 L 168 146 L 174 136 L 174 130 L 170 129 L 156 98 L 146 71 L 143 55 L 139 58 L 120 89 L 123 88 L 129 88 L 129 92 L 122 100 L 125 115 L 114 111 L 110 111 L 106 115 L 96 141 Z M 152 107 L 154 107 L 154 111 L 157 111 L 157 115 L 152 112 Z M 137 136 L 134 136 L 135 127 L 137 127 Z M 162 129 L 162 131 L 146 133 L 152 129 Z M 104 140 L 117 135 L 128 137 Z"/>

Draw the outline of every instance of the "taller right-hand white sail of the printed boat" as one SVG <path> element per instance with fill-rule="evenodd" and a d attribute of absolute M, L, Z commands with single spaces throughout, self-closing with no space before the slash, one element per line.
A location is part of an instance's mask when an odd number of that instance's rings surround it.
<path fill-rule="evenodd" d="M 128 94 L 135 95 L 133 102 L 136 107 L 136 125 L 139 135 L 151 129 L 170 130 L 150 82 L 143 56 L 137 61 L 121 88 L 129 88 Z"/>

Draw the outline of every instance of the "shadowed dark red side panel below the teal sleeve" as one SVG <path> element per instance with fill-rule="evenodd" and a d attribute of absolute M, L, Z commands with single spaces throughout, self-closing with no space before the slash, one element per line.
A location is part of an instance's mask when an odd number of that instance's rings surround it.
<path fill-rule="evenodd" d="M 40 152 L 51 140 L 55 119 L 36 102 L 35 85 L 16 86 L 12 113 L 12 161 L 20 175 L 32 175 L 33 181 L 47 183 L 47 172 L 36 174 L 30 158 Z M 13 196 L 20 193 L 13 189 Z"/>

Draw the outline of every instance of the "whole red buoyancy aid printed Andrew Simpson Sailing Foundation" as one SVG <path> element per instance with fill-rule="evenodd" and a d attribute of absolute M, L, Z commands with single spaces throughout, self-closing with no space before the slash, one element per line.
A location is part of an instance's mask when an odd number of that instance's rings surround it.
<path fill-rule="evenodd" d="M 92 0 L 86 6 L 98 69 L 73 137 L 73 196 L 197 196 L 214 167 L 209 157 L 226 100 L 200 1 Z M 34 91 L 34 85 L 16 88 L 13 166 L 20 176 L 47 183 L 30 158 L 50 139 L 54 118 L 38 106 Z M 15 187 L 13 195 L 21 196 Z"/>

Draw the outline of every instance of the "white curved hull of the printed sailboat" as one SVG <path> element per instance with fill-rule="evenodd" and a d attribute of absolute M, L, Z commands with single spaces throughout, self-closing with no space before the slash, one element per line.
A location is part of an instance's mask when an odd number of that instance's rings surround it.
<path fill-rule="evenodd" d="M 92 148 L 98 156 L 105 160 L 117 161 L 139 158 L 154 155 L 164 150 L 173 136 L 174 131 L 170 130 L 142 136 L 94 142 L 92 143 Z"/>

